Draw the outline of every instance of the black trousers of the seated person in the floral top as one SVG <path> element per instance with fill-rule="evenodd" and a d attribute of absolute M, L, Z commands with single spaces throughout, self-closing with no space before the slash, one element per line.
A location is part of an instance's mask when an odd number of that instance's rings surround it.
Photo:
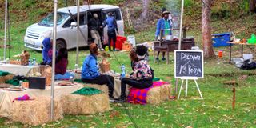
<path fill-rule="evenodd" d="M 131 78 L 122 78 L 121 79 L 121 97 L 126 97 L 126 84 L 129 86 L 138 88 L 138 89 L 145 89 L 153 85 L 152 78 L 145 78 L 141 80 L 135 80 Z"/>

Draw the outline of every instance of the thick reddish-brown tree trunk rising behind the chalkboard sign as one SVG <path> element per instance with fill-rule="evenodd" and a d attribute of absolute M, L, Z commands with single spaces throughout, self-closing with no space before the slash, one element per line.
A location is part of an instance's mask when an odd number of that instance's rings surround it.
<path fill-rule="evenodd" d="M 214 57 L 211 38 L 210 6 L 213 0 L 202 0 L 202 49 L 205 58 Z"/>

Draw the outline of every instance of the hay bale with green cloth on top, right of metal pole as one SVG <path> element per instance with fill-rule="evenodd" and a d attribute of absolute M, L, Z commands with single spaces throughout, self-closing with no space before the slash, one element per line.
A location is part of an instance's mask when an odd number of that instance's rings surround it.
<path fill-rule="evenodd" d="M 60 102 L 64 114 L 96 114 L 110 110 L 108 94 L 62 95 Z"/>

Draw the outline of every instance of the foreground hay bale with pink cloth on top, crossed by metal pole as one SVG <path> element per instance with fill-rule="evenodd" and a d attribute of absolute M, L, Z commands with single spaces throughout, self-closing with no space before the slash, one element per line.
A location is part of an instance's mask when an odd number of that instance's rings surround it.
<path fill-rule="evenodd" d="M 10 118 L 32 126 L 50 122 L 50 97 L 38 97 L 30 101 L 13 102 Z M 62 119 L 63 111 L 58 100 L 54 100 L 54 120 Z"/>

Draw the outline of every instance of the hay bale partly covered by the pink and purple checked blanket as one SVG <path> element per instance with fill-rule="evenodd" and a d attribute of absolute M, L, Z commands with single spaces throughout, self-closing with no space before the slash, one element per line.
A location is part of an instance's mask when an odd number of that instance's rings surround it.
<path fill-rule="evenodd" d="M 150 104 L 159 104 L 170 98 L 171 85 L 162 85 L 150 89 L 147 92 L 146 102 Z"/>

